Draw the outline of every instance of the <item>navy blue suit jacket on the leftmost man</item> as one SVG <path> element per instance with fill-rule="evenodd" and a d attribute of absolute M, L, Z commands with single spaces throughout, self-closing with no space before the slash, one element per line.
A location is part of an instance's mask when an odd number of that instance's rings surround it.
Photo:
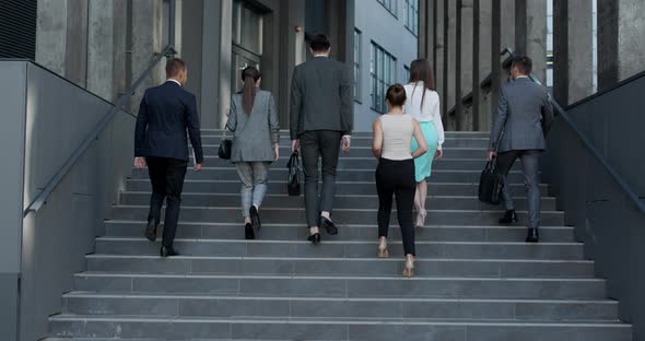
<path fill-rule="evenodd" d="M 203 162 L 195 95 L 167 81 L 145 91 L 134 131 L 134 156 L 188 161 L 188 136 L 197 163 Z"/>

